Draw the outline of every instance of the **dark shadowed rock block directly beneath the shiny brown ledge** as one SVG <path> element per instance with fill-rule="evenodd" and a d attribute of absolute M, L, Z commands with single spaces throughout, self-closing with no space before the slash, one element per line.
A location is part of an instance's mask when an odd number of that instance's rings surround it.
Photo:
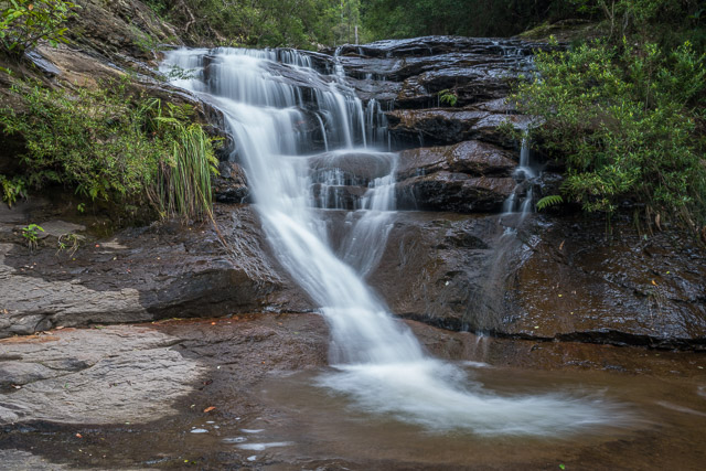
<path fill-rule="evenodd" d="M 515 184 L 512 178 L 469 176 L 440 171 L 398 183 L 397 206 L 458 213 L 499 212 Z"/>

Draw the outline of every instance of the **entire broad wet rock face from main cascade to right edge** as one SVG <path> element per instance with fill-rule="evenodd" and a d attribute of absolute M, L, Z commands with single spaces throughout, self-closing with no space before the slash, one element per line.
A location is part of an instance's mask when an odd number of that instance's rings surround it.
<path fill-rule="evenodd" d="M 394 312 L 499 336 L 706 350 L 706 257 L 629 221 L 400 213 L 370 282 Z"/>

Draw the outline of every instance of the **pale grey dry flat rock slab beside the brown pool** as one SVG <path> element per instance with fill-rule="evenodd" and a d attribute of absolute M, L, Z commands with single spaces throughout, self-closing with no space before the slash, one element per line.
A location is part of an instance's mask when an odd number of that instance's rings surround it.
<path fill-rule="evenodd" d="M 148 328 L 65 329 L 0 341 L 0 424 L 149 421 L 204 373 Z"/>

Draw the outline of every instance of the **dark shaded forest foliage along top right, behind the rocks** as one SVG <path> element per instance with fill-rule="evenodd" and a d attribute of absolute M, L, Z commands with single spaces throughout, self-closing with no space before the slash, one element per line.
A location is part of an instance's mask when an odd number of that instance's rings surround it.
<path fill-rule="evenodd" d="M 428 34 L 510 36 L 559 20 L 605 21 L 617 39 L 640 33 L 703 45 L 697 0 L 363 0 L 363 23 L 374 39 Z M 688 35 L 684 36 L 684 32 Z"/>

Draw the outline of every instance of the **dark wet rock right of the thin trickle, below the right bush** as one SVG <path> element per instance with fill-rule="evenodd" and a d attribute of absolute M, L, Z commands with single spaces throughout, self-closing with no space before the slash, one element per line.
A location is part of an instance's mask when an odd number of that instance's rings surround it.
<path fill-rule="evenodd" d="M 706 347 L 706 256 L 687 236 L 646 238 L 630 218 L 555 218 L 533 226 L 510 278 L 506 335 Z"/>

